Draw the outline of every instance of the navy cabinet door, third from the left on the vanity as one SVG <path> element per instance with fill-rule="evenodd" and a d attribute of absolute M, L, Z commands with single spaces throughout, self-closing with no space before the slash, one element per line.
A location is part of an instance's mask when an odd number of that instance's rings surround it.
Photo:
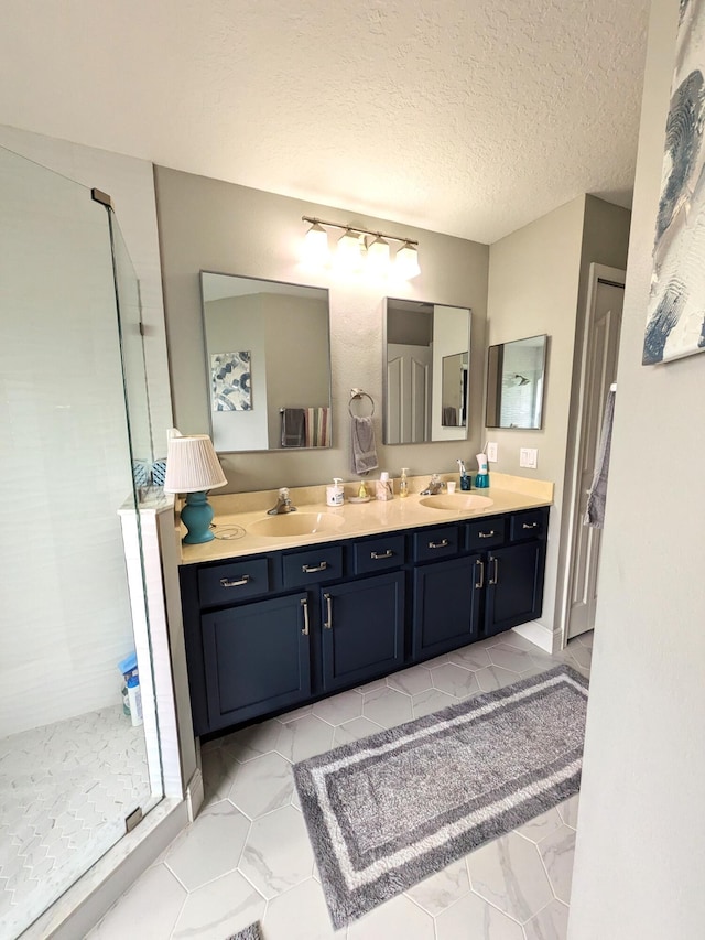
<path fill-rule="evenodd" d="M 413 657 L 427 659 L 477 639 L 485 562 L 469 555 L 414 571 Z"/>

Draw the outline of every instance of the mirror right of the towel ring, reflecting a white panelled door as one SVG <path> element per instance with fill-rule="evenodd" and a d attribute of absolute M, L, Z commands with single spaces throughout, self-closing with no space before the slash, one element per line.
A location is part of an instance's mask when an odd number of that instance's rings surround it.
<path fill-rule="evenodd" d="M 467 437 L 470 322 L 468 307 L 386 299 L 384 444 Z"/>

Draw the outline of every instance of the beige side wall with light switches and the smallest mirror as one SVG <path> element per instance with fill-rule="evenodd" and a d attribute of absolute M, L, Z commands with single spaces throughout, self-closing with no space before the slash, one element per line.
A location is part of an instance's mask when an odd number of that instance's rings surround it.
<path fill-rule="evenodd" d="M 551 510 L 543 616 L 546 633 L 557 628 L 562 532 L 570 511 L 566 455 L 573 440 L 574 348 L 587 299 L 590 262 L 625 267 L 629 213 L 593 196 L 564 206 L 497 241 L 490 248 L 488 345 L 549 335 L 543 428 L 536 431 L 488 429 L 484 440 L 498 444 L 502 473 L 550 479 Z M 521 447 L 536 447 L 535 471 L 519 467 Z M 557 641 L 546 637 L 546 646 Z"/>

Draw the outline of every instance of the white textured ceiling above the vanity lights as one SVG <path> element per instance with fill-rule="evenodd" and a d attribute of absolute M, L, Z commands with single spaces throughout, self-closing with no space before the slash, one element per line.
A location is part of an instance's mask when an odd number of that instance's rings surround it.
<path fill-rule="evenodd" d="M 648 0 L 2 0 L 0 123 L 492 242 L 629 205 Z"/>

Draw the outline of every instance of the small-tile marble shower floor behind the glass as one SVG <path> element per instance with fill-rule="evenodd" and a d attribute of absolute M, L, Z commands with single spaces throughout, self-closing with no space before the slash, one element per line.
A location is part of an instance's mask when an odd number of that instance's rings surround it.
<path fill-rule="evenodd" d="M 13 940 L 124 833 L 151 796 L 121 705 L 0 739 L 0 940 Z"/>

